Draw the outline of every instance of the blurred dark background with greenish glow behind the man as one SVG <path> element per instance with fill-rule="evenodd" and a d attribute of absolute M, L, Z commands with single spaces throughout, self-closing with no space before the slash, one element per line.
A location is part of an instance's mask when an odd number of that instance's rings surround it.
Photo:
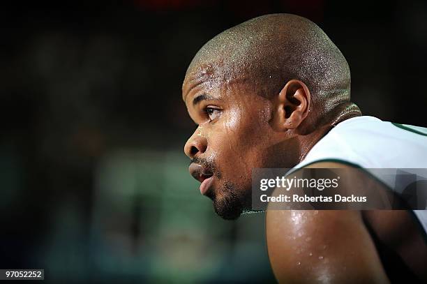
<path fill-rule="evenodd" d="M 262 214 L 218 218 L 187 172 L 191 59 L 267 13 L 316 22 L 364 114 L 427 126 L 427 2 L 0 4 L 0 268 L 47 282 L 274 281 Z"/>

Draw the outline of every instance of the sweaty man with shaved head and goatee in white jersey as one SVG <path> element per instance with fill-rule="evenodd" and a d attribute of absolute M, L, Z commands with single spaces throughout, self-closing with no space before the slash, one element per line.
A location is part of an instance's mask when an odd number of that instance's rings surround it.
<path fill-rule="evenodd" d="M 210 40 L 188 67 L 183 100 L 198 126 L 184 147 L 190 174 L 225 219 L 251 208 L 253 168 L 427 167 L 425 129 L 361 116 L 343 54 L 296 15 L 257 17 Z M 386 160 L 384 142 L 401 155 Z M 271 267 L 287 283 L 427 281 L 423 212 L 267 211 Z"/>

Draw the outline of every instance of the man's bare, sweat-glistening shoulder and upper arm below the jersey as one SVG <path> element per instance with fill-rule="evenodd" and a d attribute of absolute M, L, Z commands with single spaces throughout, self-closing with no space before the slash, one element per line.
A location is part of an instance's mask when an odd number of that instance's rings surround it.
<path fill-rule="evenodd" d="M 351 167 L 336 162 L 308 167 Z M 269 260 L 279 282 L 387 283 L 360 211 L 267 210 Z"/>

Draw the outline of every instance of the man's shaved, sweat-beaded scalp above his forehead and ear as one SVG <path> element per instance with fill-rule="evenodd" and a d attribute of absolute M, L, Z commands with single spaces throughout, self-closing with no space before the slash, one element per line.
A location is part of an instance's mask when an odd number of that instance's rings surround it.
<path fill-rule="evenodd" d="M 350 68 L 343 54 L 320 27 L 297 15 L 264 15 L 218 34 L 190 63 L 186 80 L 194 77 L 241 82 L 267 98 L 297 79 L 310 90 L 310 108 L 328 112 L 350 102 Z"/>

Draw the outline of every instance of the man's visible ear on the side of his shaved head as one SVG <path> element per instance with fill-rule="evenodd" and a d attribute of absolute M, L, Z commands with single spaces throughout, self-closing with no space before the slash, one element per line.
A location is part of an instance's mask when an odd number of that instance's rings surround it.
<path fill-rule="evenodd" d="M 300 80 L 290 80 L 274 100 L 274 128 L 297 128 L 308 115 L 311 96 L 308 87 Z"/>

